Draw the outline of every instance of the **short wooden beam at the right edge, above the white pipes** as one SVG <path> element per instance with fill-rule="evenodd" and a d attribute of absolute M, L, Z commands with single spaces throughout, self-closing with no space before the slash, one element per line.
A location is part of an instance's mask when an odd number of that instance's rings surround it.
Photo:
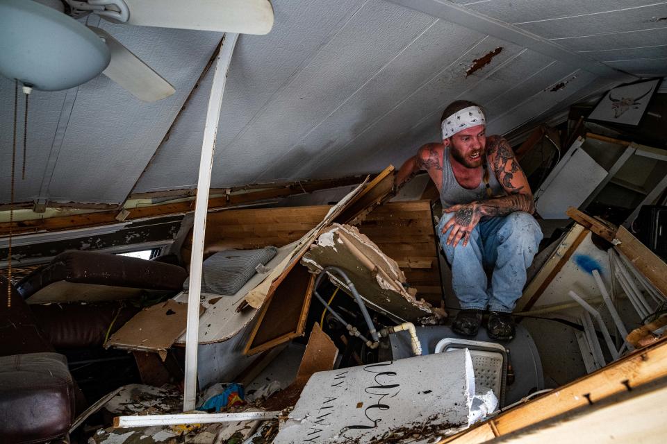
<path fill-rule="evenodd" d="M 619 227 L 616 250 L 623 253 L 632 265 L 643 274 L 660 293 L 667 296 L 667 264 L 634 237 L 625 227 Z"/>

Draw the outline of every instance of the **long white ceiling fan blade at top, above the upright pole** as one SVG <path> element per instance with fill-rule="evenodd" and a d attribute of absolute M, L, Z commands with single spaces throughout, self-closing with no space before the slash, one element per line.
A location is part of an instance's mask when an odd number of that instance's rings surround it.
<path fill-rule="evenodd" d="M 127 23 L 162 28 L 267 34 L 273 27 L 269 0 L 125 0 Z"/>

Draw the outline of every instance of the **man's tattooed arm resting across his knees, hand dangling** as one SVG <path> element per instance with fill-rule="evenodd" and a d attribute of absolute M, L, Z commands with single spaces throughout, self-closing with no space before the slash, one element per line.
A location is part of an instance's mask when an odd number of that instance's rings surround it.
<path fill-rule="evenodd" d="M 530 191 L 528 180 L 516 161 L 507 140 L 498 136 L 488 137 L 486 148 L 491 168 L 500 185 L 507 192 L 507 196 L 447 208 L 445 212 L 455 213 L 454 217 L 443 227 L 443 233 L 454 227 L 447 237 L 447 244 L 453 243 L 456 246 L 463 239 L 463 245 L 466 246 L 470 239 L 470 232 L 479 221 L 507 216 L 516 211 L 530 214 L 535 211 L 533 194 Z"/>

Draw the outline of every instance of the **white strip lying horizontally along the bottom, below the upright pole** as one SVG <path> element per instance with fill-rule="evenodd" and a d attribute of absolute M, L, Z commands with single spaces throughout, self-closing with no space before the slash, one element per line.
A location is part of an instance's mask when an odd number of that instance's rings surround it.
<path fill-rule="evenodd" d="M 215 424 L 217 422 L 265 421 L 280 416 L 279 411 L 241 411 L 238 413 L 181 413 L 176 415 L 116 416 L 114 428 L 154 425 Z"/>

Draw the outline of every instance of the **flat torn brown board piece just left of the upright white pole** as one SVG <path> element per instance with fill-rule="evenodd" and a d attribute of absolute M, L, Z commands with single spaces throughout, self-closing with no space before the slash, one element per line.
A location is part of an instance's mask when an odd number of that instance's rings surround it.
<path fill-rule="evenodd" d="M 199 307 L 199 314 L 203 312 Z M 164 361 L 167 349 L 186 331 L 187 314 L 188 304 L 165 300 L 136 314 L 104 346 L 156 352 Z"/>

